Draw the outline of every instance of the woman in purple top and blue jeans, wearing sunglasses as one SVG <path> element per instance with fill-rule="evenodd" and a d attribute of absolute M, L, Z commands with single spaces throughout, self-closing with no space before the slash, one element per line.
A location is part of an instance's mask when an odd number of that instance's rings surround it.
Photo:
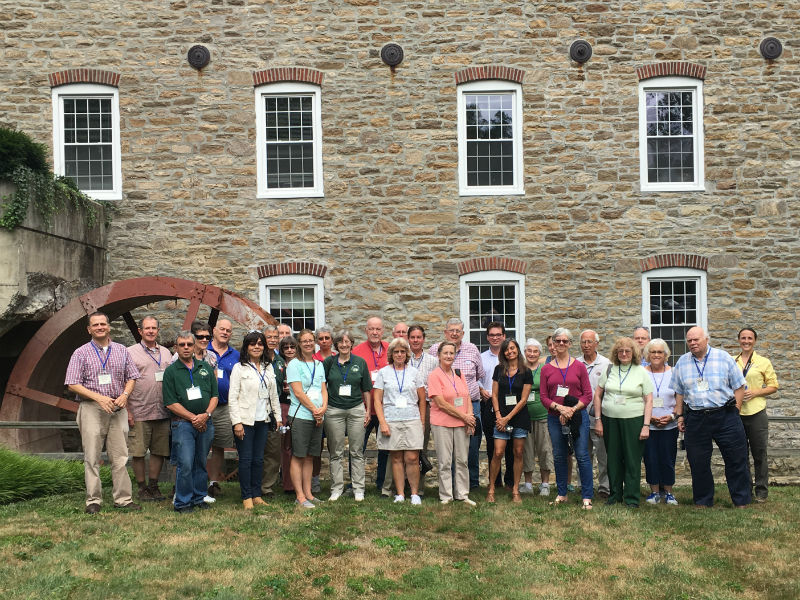
<path fill-rule="evenodd" d="M 558 486 L 558 496 L 553 504 L 567 501 L 567 452 L 571 442 L 581 478 L 583 508 L 591 510 L 594 489 L 586 407 L 592 401 L 592 386 L 586 367 L 569 355 L 572 344 L 569 329 L 556 329 L 553 344 L 555 356 L 542 366 L 539 387 L 542 404 L 548 409 L 547 428 L 553 443 L 553 465 Z"/>

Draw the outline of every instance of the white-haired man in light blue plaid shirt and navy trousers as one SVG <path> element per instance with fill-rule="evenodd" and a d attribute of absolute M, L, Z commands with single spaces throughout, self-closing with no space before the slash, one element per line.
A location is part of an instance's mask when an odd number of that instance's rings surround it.
<path fill-rule="evenodd" d="M 698 507 L 714 504 L 712 440 L 725 461 L 725 479 L 737 508 L 751 501 L 747 440 L 739 409 L 744 377 L 727 352 L 708 345 L 702 327 L 686 332 L 689 352 L 678 359 L 672 375 L 678 428 L 686 432 L 686 458 L 692 470 L 692 495 Z"/>

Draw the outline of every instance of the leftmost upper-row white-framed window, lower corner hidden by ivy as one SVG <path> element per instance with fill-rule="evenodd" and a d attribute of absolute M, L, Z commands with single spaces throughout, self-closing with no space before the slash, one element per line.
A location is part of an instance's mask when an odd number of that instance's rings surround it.
<path fill-rule="evenodd" d="M 76 83 L 52 89 L 53 171 L 95 200 L 122 199 L 119 90 Z"/>

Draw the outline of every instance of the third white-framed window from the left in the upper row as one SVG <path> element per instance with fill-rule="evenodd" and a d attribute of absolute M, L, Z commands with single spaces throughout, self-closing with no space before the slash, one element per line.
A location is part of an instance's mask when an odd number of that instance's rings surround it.
<path fill-rule="evenodd" d="M 522 86 L 475 81 L 458 86 L 458 191 L 524 194 Z"/>

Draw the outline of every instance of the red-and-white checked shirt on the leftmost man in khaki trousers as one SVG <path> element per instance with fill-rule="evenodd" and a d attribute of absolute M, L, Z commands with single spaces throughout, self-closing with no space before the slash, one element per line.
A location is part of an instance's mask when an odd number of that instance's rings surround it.
<path fill-rule="evenodd" d="M 98 378 L 103 373 L 111 375 L 111 383 L 100 383 Z M 89 342 L 72 353 L 64 385 L 82 385 L 95 393 L 118 398 L 125 391 L 125 383 L 130 379 L 139 379 L 139 369 L 125 346 L 109 342 L 106 355 L 103 356 L 100 348 L 94 342 Z M 80 402 L 84 398 L 78 396 L 77 400 Z"/>

